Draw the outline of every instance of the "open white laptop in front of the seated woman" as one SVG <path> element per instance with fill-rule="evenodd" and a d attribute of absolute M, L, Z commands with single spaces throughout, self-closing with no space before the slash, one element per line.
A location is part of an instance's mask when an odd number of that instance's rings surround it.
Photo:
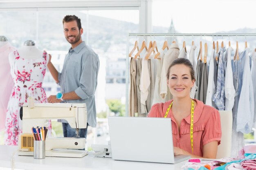
<path fill-rule="evenodd" d="M 108 117 L 112 159 L 178 163 L 187 155 L 174 156 L 171 118 Z"/>

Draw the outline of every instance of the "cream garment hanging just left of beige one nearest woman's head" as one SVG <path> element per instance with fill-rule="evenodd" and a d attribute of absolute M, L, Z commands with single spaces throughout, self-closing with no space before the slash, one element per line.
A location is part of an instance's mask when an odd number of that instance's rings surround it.
<path fill-rule="evenodd" d="M 155 89 L 154 89 L 154 98 L 152 105 L 155 103 L 163 103 L 165 99 L 162 99 L 160 96 L 160 81 L 161 81 L 161 71 L 163 65 L 164 51 L 162 49 L 159 50 L 160 55 L 158 56 L 160 59 L 157 59 L 157 75 L 155 78 Z"/>

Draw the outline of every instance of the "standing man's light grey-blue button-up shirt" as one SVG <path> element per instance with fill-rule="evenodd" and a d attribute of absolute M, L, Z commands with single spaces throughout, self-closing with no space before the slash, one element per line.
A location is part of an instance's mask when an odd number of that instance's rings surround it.
<path fill-rule="evenodd" d="M 61 92 L 74 91 L 81 99 L 64 100 L 65 103 L 85 103 L 87 107 L 87 121 L 96 127 L 96 106 L 94 93 L 97 87 L 99 73 L 99 57 L 85 42 L 81 42 L 67 53 L 63 69 L 58 73 Z M 66 120 L 61 120 L 67 123 Z"/>

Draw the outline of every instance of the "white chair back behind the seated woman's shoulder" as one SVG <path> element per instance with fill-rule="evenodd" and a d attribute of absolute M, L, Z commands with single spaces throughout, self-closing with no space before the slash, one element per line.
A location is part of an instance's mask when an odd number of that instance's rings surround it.
<path fill-rule="evenodd" d="M 220 145 L 218 146 L 216 159 L 231 156 L 231 138 L 233 122 L 232 111 L 219 110 L 219 112 L 222 135 Z"/>

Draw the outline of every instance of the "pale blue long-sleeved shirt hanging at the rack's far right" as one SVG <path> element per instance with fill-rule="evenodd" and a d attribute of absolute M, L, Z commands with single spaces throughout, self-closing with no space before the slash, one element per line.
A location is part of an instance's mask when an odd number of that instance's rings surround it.
<path fill-rule="evenodd" d="M 250 70 L 249 61 L 249 49 L 246 48 L 245 51 L 240 55 L 240 60 L 244 60 L 244 69 L 242 78 L 242 87 L 240 91 L 240 98 L 238 102 L 237 109 L 237 119 L 236 119 L 236 131 L 243 133 L 252 132 L 253 117 L 254 117 L 254 91 L 252 84 L 252 75 Z M 241 67 L 240 67 L 241 68 Z M 240 72 L 240 71 L 239 71 Z"/>

